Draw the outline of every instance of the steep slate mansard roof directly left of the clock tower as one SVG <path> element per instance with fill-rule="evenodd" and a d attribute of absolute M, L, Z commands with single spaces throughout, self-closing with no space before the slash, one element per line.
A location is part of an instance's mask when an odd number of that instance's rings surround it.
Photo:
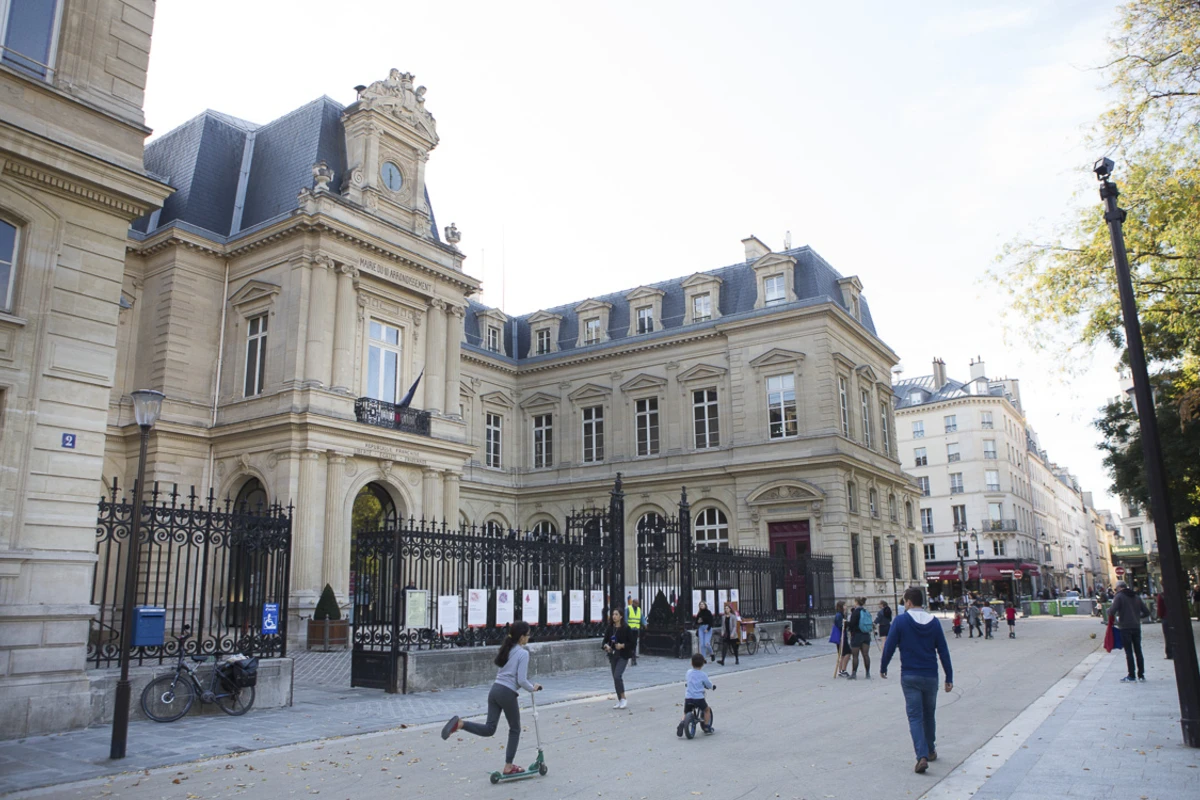
<path fill-rule="evenodd" d="M 146 145 L 145 168 L 161 175 L 175 193 L 162 211 L 136 219 L 133 235 L 175 223 L 217 241 L 234 239 L 295 210 L 300 190 L 312 187 L 312 167 L 318 161 L 334 172 L 330 187 L 341 187 L 344 110 L 337 101 L 320 97 L 266 125 L 206 110 L 158 137 Z M 250 172 L 242 186 L 247 156 Z M 432 236 L 440 241 L 436 222 Z"/>

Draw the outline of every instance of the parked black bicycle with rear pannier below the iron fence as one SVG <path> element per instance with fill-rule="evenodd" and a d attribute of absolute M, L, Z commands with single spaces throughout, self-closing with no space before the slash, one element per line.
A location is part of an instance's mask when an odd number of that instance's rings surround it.
<path fill-rule="evenodd" d="M 197 667 L 209 660 L 209 656 L 191 656 L 192 663 L 184 660 L 184 643 L 192 638 L 190 625 L 175 637 L 179 649 L 179 661 L 175 672 L 150 681 L 142 692 L 142 710 L 155 722 L 174 722 L 192 709 L 196 698 L 200 703 L 216 703 L 217 708 L 230 716 L 241 716 L 254 705 L 254 684 L 258 681 L 258 658 L 215 663 L 209 684 L 205 686 Z"/>

